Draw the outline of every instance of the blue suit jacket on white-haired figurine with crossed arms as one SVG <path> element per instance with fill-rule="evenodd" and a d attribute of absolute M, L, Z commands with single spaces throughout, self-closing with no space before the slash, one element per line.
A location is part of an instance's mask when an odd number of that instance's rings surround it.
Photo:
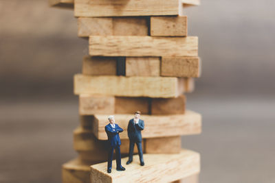
<path fill-rule="evenodd" d="M 109 146 L 116 147 L 118 145 L 121 145 L 119 133 L 123 132 L 123 129 L 118 124 L 115 124 L 115 128 L 113 128 L 109 123 L 105 126 L 105 132 L 108 136 Z"/>

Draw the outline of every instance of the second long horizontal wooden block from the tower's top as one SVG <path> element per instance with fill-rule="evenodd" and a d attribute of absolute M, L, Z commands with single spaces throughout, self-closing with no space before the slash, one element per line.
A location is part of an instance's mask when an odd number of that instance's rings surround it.
<path fill-rule="evenodd" d="M 198 38 L 89 36 L 91 56 L 198 56 Z"/>

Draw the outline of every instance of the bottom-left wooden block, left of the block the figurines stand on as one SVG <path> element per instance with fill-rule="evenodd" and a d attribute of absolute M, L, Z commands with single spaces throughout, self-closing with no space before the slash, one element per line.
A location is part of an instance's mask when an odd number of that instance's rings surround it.
<path fill-rule="evenodd" d="M 62 166 L 63 183 L 90 183 L 89 171 L 91 164 L 78 159 L 66 162 Z"/>

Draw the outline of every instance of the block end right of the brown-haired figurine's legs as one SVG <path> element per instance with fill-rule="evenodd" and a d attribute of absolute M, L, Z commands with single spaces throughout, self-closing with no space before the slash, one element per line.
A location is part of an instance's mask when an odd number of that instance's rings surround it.
<path fill-rule="evenodd" d="M 181 151 L 181 136 L 146 138 L 146 154 L 175 154 Z"/>

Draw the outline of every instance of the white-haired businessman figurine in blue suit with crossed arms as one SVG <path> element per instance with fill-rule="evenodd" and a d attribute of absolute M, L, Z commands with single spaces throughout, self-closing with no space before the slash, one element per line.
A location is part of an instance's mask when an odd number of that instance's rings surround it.
<path fill-rule="evenodd" d="M 113 160 L 113 149 L 115 149 L 115 158 L 116 158 L 116 170 L 124 171 L 125 168 L 121 166 L 121 155 L 120 155 L 120 132 L 123 132 L 122 128 L 115 124 L 115 117 L 109 116 L 109 124 L 105 126 L 105 132 L 108 136 L 108 169 L 107 172 L 111 173 L 112 160 Z"/>

